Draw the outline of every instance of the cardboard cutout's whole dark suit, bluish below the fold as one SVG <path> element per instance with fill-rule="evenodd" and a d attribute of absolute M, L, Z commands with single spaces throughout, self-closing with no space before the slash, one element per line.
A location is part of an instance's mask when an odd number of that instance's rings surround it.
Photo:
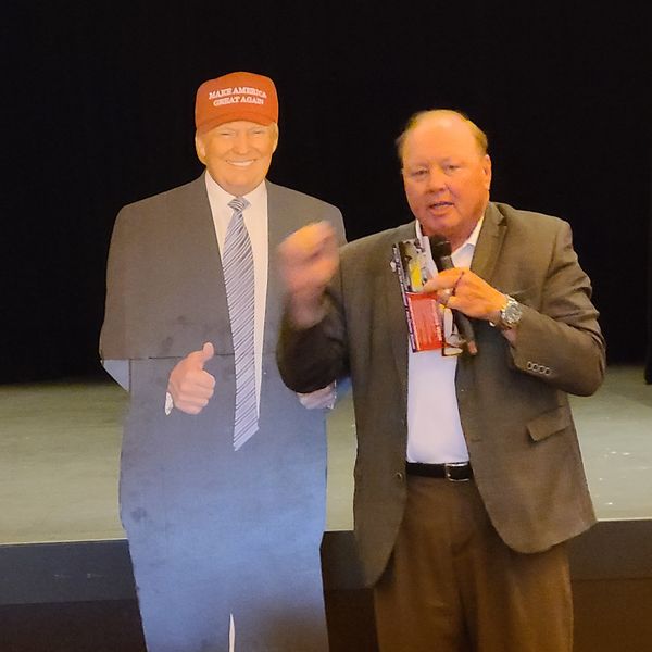
<path fill-rule="evenodd" d="M 306 410 L 275 362 L 283 287 L 277 244 L 340 212 L 267 184 L 269 266 L 259 431 L 233 447 L 234 350 L 203 177 L 125 206 L 108 268 L 104 360 L 124 361 L 130 408 L 121 518 L 148 649 L 326 650 L 319 541 L 325 525 L 324 414 Z M 163 411 L 170 372 L 206 341 L 215 393 L 200 415 Z"/>

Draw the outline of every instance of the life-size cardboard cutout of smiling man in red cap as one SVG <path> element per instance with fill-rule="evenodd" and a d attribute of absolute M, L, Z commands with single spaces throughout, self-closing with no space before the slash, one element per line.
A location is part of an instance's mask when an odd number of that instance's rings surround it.
<path fill-rule="evenodd" d="M 198 179 L 124 208 L 101 354 L 131 394 L 121 517 L 150 652 L 327 650 L 319 542 L 328 390 L 298 398 L 275 363 L 269 251 L 340 212 L 265 180 L 268 77 L 197 92 Z"/>

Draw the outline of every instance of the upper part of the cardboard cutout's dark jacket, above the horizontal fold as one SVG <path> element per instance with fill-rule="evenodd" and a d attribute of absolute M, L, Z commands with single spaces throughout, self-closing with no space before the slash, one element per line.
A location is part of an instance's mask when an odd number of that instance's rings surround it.
<path fill-rule="evenodd" d="M 302 192 L 266 181 L 269 269 L 265 352 L 274 352 L 283 286 L 278 244 L 308 222 L 328 220 L 344 242 L 340 212 Z M 211 273 L 212 272 L 212 273 Z M 212 341 L 233 354 L 226 292 L 203 175 L 122 209 L 111 239 L 103 360 L 184 356 Z"/>

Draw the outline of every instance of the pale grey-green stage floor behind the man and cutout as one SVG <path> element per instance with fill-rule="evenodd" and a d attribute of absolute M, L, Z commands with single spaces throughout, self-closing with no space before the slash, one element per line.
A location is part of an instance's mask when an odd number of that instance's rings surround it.
<path fill-rule="evenodd" d="M 652 386 L 642 367 L 610 367 L 574 398 L 598 517 L 652 518 Z M 0 544 L 122 539 L 117 516 L 126 394 L 111 381 L 0 386 Z M 331 414 L 327 523 L 352 526 L 350 397 Z"/>

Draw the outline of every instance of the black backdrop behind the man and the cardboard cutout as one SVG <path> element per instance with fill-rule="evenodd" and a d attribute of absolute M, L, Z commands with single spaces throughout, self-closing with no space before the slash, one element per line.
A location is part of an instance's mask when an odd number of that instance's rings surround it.
<path fill-rule="evenodd" d="M 98 373 L 118 209 L 201 171 L 193 96 L 272 76 L 271 178 L 338 204 L 350 238 L 408 220 L 393 139 L 467 112 L 492 196 L 574 227 L 612 362 L 643 362 L 652 52 L 648 23 L 577 3 L 9 2 L 2 21 L 0 381 Z"/>

